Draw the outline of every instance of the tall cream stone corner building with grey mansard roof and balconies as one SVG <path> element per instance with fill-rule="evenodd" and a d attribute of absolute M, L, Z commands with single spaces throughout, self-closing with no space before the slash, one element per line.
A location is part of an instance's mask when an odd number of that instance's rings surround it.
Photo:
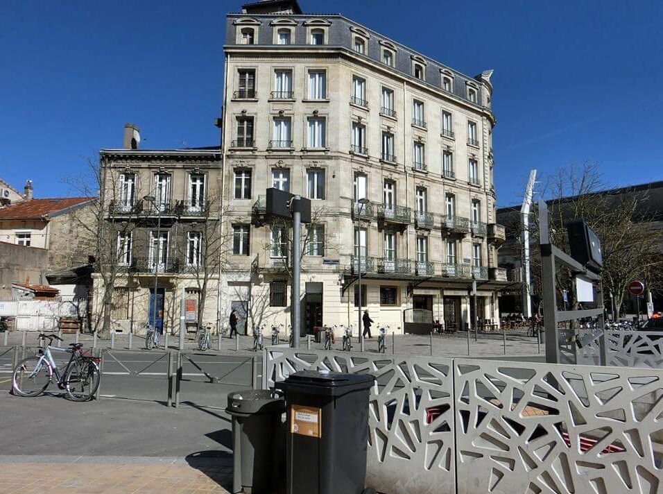
<path fill-rule="evenodd" d="M 361 305 L 379 324 L 466 327 L 473 282 L 476 317 L 497 320 L 492 71 L 465 76 L 292 1 L 227 15 L 224 52 L 223 223 L 235 241 L 223 309 L 289 325 L 288 233 L 264 218 L 277 187 L 312 202 L 307 330 L 356 327 L 360 269 Z"/>

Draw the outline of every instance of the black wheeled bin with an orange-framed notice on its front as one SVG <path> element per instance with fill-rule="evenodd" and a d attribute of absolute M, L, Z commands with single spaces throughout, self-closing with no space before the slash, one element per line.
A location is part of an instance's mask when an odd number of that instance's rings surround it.
<path fill-rule="evenodd" d="M 361 494 L 368 443 L 368 374 L 300 371 L 286 393 L 286 493 Z"/>

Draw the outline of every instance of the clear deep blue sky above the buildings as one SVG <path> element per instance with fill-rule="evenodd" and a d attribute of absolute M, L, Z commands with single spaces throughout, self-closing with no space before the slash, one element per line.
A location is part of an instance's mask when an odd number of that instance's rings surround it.
<path fill-rule="evenodd" d="M 71 194 L 123 123 L 146 148 L 207 146 L 223 90 L 224 16 L 241 1 L 0 2 L 0 177 Z M 466 74 L 494 68 L 499 205 L 529 169 L 599 162 L 612 185 L 663 180 L 660 1 L 301 0 Z M 416 7 L 415 7 L 416 6 Z M 414 28 L 414 26 L 417 26 Z"/>

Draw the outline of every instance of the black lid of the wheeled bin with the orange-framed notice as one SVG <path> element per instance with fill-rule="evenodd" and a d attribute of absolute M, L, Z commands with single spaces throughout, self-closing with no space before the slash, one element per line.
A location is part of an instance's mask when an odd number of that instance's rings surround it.
<path fill-rule="evenodd" d="M 340 396 L 351 391 L 368 389 L 375 377 L 370 374 L 345 374 L 329 371 L 299 371 L 285 381 L 275 383 L 286 392 L 311 395 Z"/>

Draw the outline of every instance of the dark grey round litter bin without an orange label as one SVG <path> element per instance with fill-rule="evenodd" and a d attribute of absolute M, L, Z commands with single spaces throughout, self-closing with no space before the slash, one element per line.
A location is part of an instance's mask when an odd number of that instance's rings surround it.
<path fill-rule="evenodd" d="M 282 391 L 234 391 L 225 410 L 232 416 L 232 492 L 276 492 L 284 480 Z"/>

